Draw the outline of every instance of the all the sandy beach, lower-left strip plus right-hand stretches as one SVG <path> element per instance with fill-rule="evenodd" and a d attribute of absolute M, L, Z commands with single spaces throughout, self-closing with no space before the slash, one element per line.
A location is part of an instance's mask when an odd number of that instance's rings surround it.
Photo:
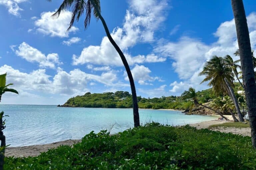
<path fill-rule="evenodd" d="M 225 115 L 228 119 L 232 120 L 231 115 Z M 206 121 L 206 122 L 200 122 L 196 124 L 190 124 L 190 126 L 196 127 L 197 129 L 201 128 L 208 128 L 210 125 L 217 125 L 217 124 L 223 124 L 227 121 L 220 121 L 220 120 L 213 120 L 213 121 Z M 231 132 L 234 134 L 240 134 L 243 136 L 250 136 L 251 135 L 251 129 L 250 128 L 214 128 L 211 130 L 215 131 L 221 131 L 221 132 Z M 6 148 L 5 156 L 14 156 L 14 157 L 28 157 L 28 156 L 38 156 L 41 152 L 46 152 L 48 149 L 56 148 L 60 145 L 73 145 L 77 142 L 80 142 L 81 140 L 64 140 L 49 144 L 43 144 L 43 145 L 32 145 L 32 146 L 21 146 L 21 147 L 8 147 Z"/>

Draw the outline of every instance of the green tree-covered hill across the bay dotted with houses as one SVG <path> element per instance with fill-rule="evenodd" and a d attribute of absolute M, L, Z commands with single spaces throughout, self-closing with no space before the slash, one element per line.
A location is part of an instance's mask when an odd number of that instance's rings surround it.
<path fill-rule="evenodd" d="M 197 92 L 199 102 L 205 103 L 209 99 L 216 98 L 211 89 Z M 161 98 L 137 97 L 139 108 L 142 109 L 189 109 L 192 105 L 190 100 L 182 100 L 179 96 L 162 96 Z M 58 105 L 60 106 L 60 105 Z M 132 96 L 126 91 L 115 93 L 85 93 L 68 99 L 61 107 L 88 107 L 88 108 L 132 108 Z"/>

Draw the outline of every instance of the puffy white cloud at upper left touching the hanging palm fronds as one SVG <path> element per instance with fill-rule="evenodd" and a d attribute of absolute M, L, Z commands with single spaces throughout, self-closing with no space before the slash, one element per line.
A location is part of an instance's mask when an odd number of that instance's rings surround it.
<path fill-rule="evenodd" d="M 43 12 L 40 19 L 35 21 L 36 30 L 42 34 L 51 37 L 68 37 L 69 33 L 76 32 L 78 28 L 72 27 L 68 32 L 69 22 L 72 13 L 70 11 L 62 12 L 58 18 L 51 17 L 54 12 Z"/>

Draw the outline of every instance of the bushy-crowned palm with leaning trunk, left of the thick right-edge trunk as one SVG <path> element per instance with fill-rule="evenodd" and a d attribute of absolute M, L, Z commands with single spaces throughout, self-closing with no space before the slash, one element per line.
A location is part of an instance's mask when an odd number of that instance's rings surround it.
<path fill-rule="evenodd" d="M 239 109 L 239 105 L 232 87 L 234 73 L 232 69 L 225 64 L 225 60 L 222 57 L 213 56 L 209 61 L 206 61 L 203 71 L 199 75 L 205 75 L 206 78 L 203 82 L 207 82 L 208 86 L 212 86 L 215 94 L 228 94 L 235 104 L 237 114 L 240 122 L 244 122 L 243 116 Z"/>

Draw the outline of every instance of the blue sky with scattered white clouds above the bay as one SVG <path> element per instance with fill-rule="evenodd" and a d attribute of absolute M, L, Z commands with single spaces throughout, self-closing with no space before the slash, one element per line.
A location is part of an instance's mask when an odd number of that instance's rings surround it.
<path fill-rule="evenodd" d="M 67 32 L 71 11 L 51 15 L 61 0 L 0 0 L 0 74 L 19 95 L 5 93 L 1 104 L 64 104 L 86 92 L 131 91 L 122 61 L 101 21 L 84 16 Z M 256 4 L 244 1 L 252 49 L 256 47 Z M 137 96 L 180 96 L 200 84 L 198 76 L 213 55 L 238 49 L 229 0 L 101 1 L 113 39 L 131 68 Z M 234 59 L 238 59 L 233 56 Z"/>

